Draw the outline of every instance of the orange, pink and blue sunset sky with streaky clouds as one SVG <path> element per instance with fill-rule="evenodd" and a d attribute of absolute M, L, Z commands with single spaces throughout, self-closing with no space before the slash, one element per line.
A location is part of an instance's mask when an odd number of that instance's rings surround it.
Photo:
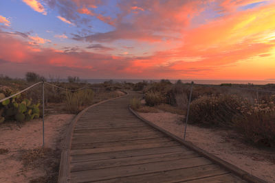
<path fill-rule="evenodd" d="M 275 0 L 0 1 L 0 74 L 275 78 Z"/>

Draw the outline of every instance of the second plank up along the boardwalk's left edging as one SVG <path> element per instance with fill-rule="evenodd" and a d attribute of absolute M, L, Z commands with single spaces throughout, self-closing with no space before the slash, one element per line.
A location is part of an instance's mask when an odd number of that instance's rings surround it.
<path fill-rule="evenodd" d="M 122 167 L 134 164 L 144 164 L 148 162 L 165 162 L 170 160 L 179 160 L 187 158 L 199 157 L 199 154 L 196 154 L 193 151 L 185 152 L 174 152 L 168 154 L 151 154 L 144 156 L 135 156 L 128 158 L 115 158 L 109 160 L 95 160 L 95 161 L 86 161 L 86 162 L 75 162 L 71 163 L 71 172 L 73 171 L 83 171 L 91 169 L 106 169 L 111 167 Z"/>

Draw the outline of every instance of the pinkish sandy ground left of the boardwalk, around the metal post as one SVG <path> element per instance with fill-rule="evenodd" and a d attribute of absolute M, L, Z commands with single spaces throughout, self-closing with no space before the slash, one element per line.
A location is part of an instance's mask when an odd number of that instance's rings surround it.
<path fill-rule="evenodd" d="M 74 114 L 54 114 L 45 118 L 45 147 L 56 149 L 65 130 L 74 118 Z M 0 182 L 30 182 L 45 175 L 41 168 L 26 168 L 20 156 L 24 149 L 36 149 L 42 146 L 42 120 L 35 119 L 19 127 L 14 123 L 0 126 Z"/>

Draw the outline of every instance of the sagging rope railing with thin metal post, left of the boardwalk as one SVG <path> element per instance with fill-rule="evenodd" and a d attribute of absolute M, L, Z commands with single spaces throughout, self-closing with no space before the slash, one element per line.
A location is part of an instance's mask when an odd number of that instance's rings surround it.
<path fill-rule="evenodd" d="M 17 95 L 19 95 L 19 94 L 21 94 L 21 93 L 29 90 L 30 88 L 39 85 L 39 84 L 43 85 L 42 86 L 42 98 L 43 98 L 43 147 L 45 145 L 45 142 L 44 142 L 44 136 L 45 136 L 44 135 L 44 117 L 45 117 L 45 99 L 44 99 L 44 97 L 45 97 L 45 93 L 44 93 L 45 88 L 44 88 L 44 86 L 45 86 L 45 84 L 47 84 L 49 86 L 56 87 L 56 88 L 60 88 L 62 90 L 67 90 L 67 91 L 78 91 L 78 90 L 83 90 L 85 88 L 93 88 L 93 89 L 111 88 L 111 86 L 102 87 L 102 88 L 96 88 L 96 87 L 91 87 L 91 86 L 84 86 L 84 87 L 78 88 L 78 89 L 67 89 L 67 88 L 62 88 L 60 86 L 57 86 L 55 84 L 51 84 L 51 83 L 48 83 L 48 82 L 37 82 L 36 84 L 33 84 L 32 86 L 29 86 L 28 88 L 25 88 L 24 90 L 21 90 L 18 93 L 15 93 L 14 95 L 10 95 L 10 97 L 5 97 L 4 99 L 1 99 L 0 103 L 3 102 L 3 101 L 6 101 L 8 99 L 11 99 L 12 97 L 15 97 L 15 96 L 17 96 Z"/>

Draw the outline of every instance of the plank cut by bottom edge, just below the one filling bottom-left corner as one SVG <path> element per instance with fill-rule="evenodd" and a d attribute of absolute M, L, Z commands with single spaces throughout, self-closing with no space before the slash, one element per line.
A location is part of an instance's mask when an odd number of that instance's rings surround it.
<path fill-rule="evenodd" d="M 135 175 L 130 177 L 115 178 L 111 180 L 104 180 L 105 183 L 115 182 L 184 182 L 199 178 L 206 178 L 214 175 L 223 175 L 228 173 L 216 164 L 204 165 L 199 167 L 192 167 L 188 169 L 177 169 L 170 171 L 160 171 L 157 173 L 146 173 L 142 175 Z M 101 181 L 100 181 L 101 182 Z"/>

